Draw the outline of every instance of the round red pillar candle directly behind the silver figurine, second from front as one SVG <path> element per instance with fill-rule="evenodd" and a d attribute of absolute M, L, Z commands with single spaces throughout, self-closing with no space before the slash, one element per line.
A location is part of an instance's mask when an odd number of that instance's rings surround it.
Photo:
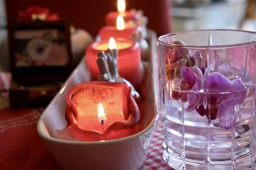
<path fill-rule="evenodd" d="M 141 55 L 138 43 L 130 39 L 118 38 L 115 41 L 118 50 L 118 73 L 122 78 L 130 81 L 135 89 L 140 91 L 142 81 Z M 86 49 L 86 63 L 91 73 L 91 80 L 97 80 L 100 74 L 97 67 L 97 53 L 109 48 L 108 40 L 95 41 Z"/>

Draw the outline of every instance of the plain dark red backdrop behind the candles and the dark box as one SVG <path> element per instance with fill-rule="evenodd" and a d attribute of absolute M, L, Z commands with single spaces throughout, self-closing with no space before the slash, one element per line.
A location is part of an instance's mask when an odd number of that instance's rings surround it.
<path fill-rule="evenodd" d="M 59 13 L 77 28 L 96 36 L 104 25 L 104 16 L 109 11 L 116 11 L 117 0 L 6 0 L 8 20 L 17 17 L 17 11 L 25 10 L 29 5 L 50 8 L 52 13 Z M 126 0 L 126 9 L 143 10 L 148 17 L 148 28 L 154 29 L 157 36 L 171 30 L 169 0 Z"/>

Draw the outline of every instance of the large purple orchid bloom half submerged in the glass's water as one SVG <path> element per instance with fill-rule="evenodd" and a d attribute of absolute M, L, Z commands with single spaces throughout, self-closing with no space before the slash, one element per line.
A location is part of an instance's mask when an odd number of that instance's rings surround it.
<path fill-rule="evenodd" d="M 246 87 L 240 79 L 230 81 L 223 74 L 213 72 L 204 78 L 198 67 L 183 66 L 180 69 L 182 83 L 189 85 L 186 94 L 188 107 L 186 111 L 196 110 L 209 120 L 219 118 L 219 127 L 230 129 L 236 125 L 236 106 L 246 98 Z M 188 90 L 188 89 L 186 89 Z M 204 90 L 200 93 L 200 90 Z M 207 104 L 205 104 L 207 99 Z"/>

